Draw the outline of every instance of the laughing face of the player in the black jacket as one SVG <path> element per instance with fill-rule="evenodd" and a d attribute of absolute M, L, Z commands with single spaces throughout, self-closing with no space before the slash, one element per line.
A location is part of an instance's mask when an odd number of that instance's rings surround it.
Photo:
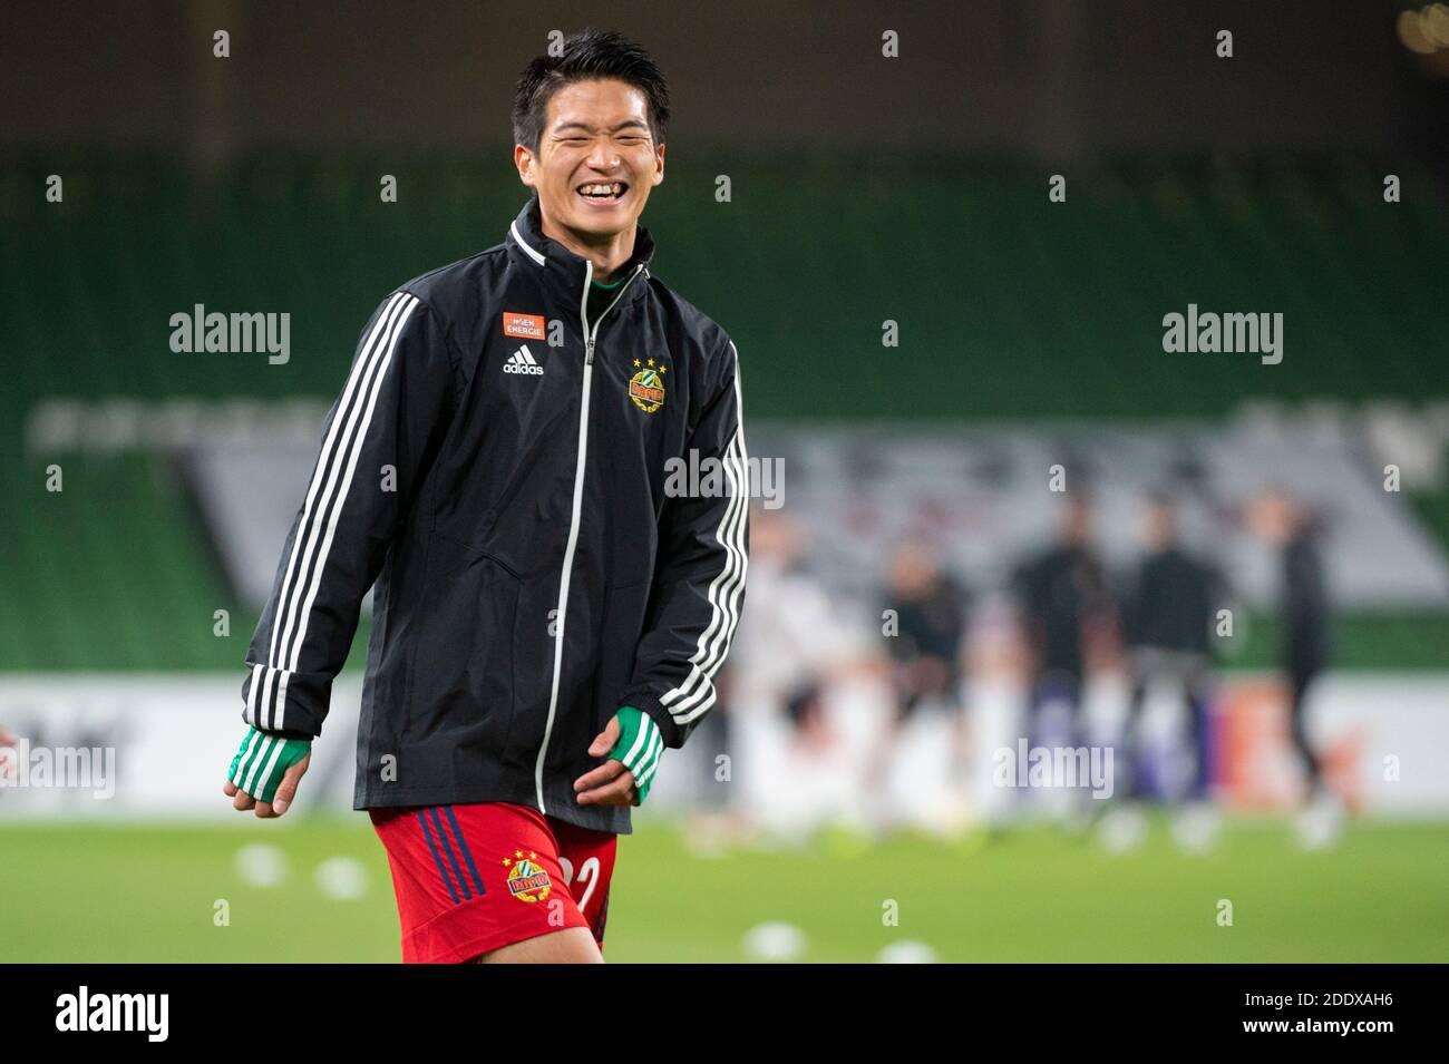
<path fill-rule="evenodd" d="M 548 103 L 538 152 L 513 152 L 543 216 L 580 239 L 633 232 L 651 190 L 664 181 L 643 93 L 623 81 L 575 81 Z"/>

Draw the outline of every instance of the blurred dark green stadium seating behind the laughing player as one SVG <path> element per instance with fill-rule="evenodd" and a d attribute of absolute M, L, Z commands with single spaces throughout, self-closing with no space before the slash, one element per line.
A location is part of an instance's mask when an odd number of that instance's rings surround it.
<path fill-rule="evenodd" d="M 67 161 L 61 204 L 36 194 L 54 158 L 0 168 L 0 415 L 17 447 L 55 398 L 329 400 L 377 301 L 497 243 L 522 201 L 501 158 L 258 156 L 212 184 L 170 159 L 100 158 Z M 380 200 L 385 174 L 397 203 Z M 700 210 L 719 174 L 730 201 Z M 1443 379 L 1449 211 L 1429 194 L 1385 204 L 1371 161 L 1066 177 L 1053 204 L 1048 174 L 1019 161 L 671 165 L 646 219 L 655 272 L 727 323 L 756 421 L 1222 417 L 1245 398 L 1416 401 Z M 1164 353 L 1162 316 L 1190 303 L 1281 311 L 1284 362 Z M 194 304 L 290 313 L 290 360 L 172 353 L 170 317 Z M 898 347 L 881 345 L 887 318 Z M 62 492 L 45 489 L 52 462 Z M 122 414 L 109 444 L 93 427 L 85 447 L 32 449 L 0 476 L 0 667 L 235 666 L 254 617 L 197 546 L 178 465 L 129 446 Z M 1449 531 L 1442 486 L 1419 502 Z M 222 608 L 230 640 L 212 634 Z M 1248 659 L 1269 638 L 1256 625 Z M 1437 664 L 1443 646 L 1437 614 L 1343 620 L 1345 664 Z"/>

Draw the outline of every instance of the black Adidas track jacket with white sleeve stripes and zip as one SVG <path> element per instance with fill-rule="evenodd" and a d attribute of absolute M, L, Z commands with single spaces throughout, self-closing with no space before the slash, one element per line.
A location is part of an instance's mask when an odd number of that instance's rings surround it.
<path fill-rule="evenodd" d="M 640 226 L 590 321 L 593 263 L 535 197 L 362 330 L 242 685 L 248 724 L 320 734 L 375 583 L 355 808 L 627 832 L 626 806 L 574 801 L 590 741 L 635 705 L 678 747 L 714 705 L 749 549 L 738 352 L 652 252 Z"/>

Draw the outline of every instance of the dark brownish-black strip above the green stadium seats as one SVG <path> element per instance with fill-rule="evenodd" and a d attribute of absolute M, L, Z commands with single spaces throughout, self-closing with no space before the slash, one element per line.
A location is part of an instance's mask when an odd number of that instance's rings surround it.
<path fill-rule="evenodd" d="M 678 152 L 1443 151 L 1394 0 L 45 3 L 0 14 L 0 140 L 196 151 L 507 149 L 549 30 L 635 36 Z M 213 62 L 210 36 L 232 33 Z M 901 58 L 880 55 L 885 29 Z M 1214 35 L 1235 33 L 1235 56 Z M 214 155 L 213 155 L 214 153 Z M 501 162 L 500 156 L 500 162 Z"/>

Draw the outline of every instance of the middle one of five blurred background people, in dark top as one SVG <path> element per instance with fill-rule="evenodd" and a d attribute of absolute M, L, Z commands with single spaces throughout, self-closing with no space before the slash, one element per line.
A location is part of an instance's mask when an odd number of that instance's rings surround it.
<path fill-rule="evenodd" d="M 1087 662 L 1113 638 L 1116 608 L 1093 546 L 1094 508 L 1075 491 L 1062 502 L 1056 543 L 1022 562 L 1011 588 L 1027 646 L 1027 728 L 1032 747 L 1081 746 Z M 1065 718 L 1053 727 L 1052 717 Z"/>

